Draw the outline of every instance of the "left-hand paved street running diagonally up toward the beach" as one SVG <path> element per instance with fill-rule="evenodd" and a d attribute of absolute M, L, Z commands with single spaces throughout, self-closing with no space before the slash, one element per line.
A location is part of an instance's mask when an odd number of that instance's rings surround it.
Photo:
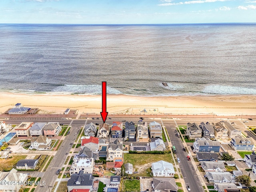
<path fill-rule="evenodd" d="M 59 150 L 56 152 L 56 155 L 52 159 L 52 162 L 48 166 L 46 172 L 44 172 L 44 176 L 41 179 L 41 181 L 45 181 L 46 185 L 40 187 L 38 186 L 35 192 L 49 192 L 49 190 L 52 190 L 52 187 L 54 186 L 54 183 L 58 178 L 58 175 L 56 175 L 56 171 L 59 168 L 62 168 L 62 165 L 64 164 L 66 157 L 68 156 L 72 145 L 76 140 L 81 126 L 85 123 L 85 120 L 81 123 L 82 124 L 80 125 L 76 124 L 76 126 L 73 126 L 73 124 L 71 124 L 72 128 L 70 128 L 70 134 L 68 134 L 63 140 Z"/>

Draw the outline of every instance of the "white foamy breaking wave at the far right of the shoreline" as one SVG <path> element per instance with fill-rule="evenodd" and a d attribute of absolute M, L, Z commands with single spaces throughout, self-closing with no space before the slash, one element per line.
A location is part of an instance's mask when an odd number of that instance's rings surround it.
<path fill-rule="evenodd" d="M 202 92 L 210 94 L 256 94 L 256 89 L 238 86 L 208 85 Z"/>

